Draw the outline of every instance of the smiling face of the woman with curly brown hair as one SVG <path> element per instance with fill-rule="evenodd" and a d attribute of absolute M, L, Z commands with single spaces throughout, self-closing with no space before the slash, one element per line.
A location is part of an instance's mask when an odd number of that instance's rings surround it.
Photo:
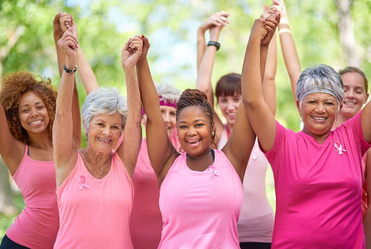
<path fill-rule="evenodd" d="M 22 127 L 29 135 L 48 132 L 49 113 L 45 103 L 36 93 L 27 92 L 21 96 L 18 114 Z"/>

